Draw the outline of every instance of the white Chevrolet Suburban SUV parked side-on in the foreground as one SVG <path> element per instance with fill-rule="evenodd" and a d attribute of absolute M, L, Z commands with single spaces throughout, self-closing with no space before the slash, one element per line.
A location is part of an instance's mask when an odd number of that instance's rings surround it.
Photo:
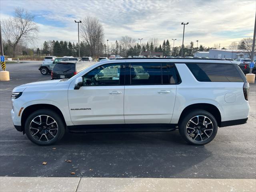
<path fill-rule="evenodd" d="M 15 128 L 39 145 L 70 132 L 172 131 L 190 144 L 248 119 L 249 84 L 232 61 L 120 58 L 70 79 L 24 84 L 12 93 Z M 97 126 L 96 126 L 97 125 Z"/>

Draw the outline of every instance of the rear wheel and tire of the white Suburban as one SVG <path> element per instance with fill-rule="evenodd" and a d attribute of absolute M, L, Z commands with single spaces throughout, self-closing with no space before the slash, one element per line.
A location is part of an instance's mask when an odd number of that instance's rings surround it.
<path fill-rule="evenodd" d="M 216 119 L 205 110 L 191 110 L 185 114 L 179 124 L 179 132 L 182 138 L 193 145 L 204 145 L 211 142 L 217 131 L 218 123 Z"/>

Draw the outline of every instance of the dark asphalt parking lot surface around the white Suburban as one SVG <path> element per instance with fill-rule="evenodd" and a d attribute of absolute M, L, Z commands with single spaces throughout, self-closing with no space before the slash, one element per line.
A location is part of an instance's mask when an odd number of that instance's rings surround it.
<path fill-rule="evenodd" d="M 219 128 L 205 146 L 186 144 L 178 131 L 67 133 L 54 146 L 37 146 L 14 128 L 10 96 L 15 86 L 50 79 L 40 63 L 8 64 L 10 82 L 0 82 L 0 176 L 256 178 L 256 84 L 248 123 Z"/>

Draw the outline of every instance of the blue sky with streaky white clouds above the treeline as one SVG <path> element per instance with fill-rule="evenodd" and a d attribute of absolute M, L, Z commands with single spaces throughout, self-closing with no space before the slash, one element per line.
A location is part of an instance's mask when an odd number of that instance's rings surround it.
<path fill-rule="evenodd" d="M 78 42 L 77 24 L 95 16 L 104 28 L 105 41 L 114 43 L 128 35 L 163 40 L 177 39 L 175 46 L 191 41 L 198 46 L 228 48 L 233 41 L 253 36 L 256 0 L 0 0 L 0 20 L 12 17 L 16 7 L 27 9 L 39 26 L 34 46 L 45 40 Z M 82 40 L 80 38 L 80 40 Z"/>

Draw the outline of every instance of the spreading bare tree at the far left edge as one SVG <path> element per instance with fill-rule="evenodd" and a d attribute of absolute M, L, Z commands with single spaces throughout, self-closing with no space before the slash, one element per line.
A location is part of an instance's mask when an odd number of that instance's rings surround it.
<path fill-rule="evenodd" d="M 1 25 L 4 39 L 12 46 L 13 57 L 18 44 L 33 42 L 38 33 L 34 16 L 24 8 L 16 8 L 14 18 L 2 20 Z"/>

